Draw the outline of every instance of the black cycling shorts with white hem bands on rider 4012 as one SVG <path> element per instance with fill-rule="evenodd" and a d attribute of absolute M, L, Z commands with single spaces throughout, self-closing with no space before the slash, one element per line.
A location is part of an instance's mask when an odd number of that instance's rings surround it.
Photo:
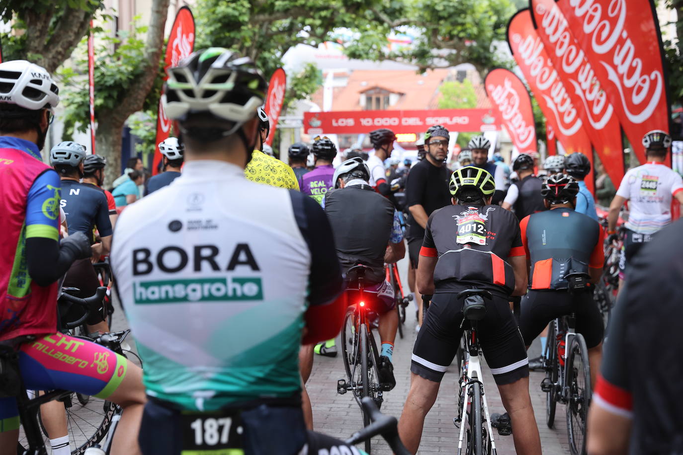
<path fill-rule="evenodd" d="M 434 294 L 415 340 L 410 371 L 430 381 L 441 382 L 460 345 L 463 301 L 458 292 Z M 477 327 L 479 344 L 497 384 L 529 376 L 527 349 L 507 299 L 487 299 L 486 317 Z"/>

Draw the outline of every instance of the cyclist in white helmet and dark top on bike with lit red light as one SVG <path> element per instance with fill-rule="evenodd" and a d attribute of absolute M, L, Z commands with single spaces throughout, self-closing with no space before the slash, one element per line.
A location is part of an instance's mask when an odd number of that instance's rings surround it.
<path fill-rule="evenodd" d="M 406 254 L 398 212 L 389 199 L 370 186 L 370 168 L 360 158 L 339 164 L 334 175 L 335 189 L 325 196 L 325 214 L 332 226 L 337 257 L 344 269 L 364 264 L 365 292 L 375 294 L 373 310 L 379 314 L 379 375 L 383 390 L 396 385 L 393 377 L 393 342 L 398 329 L 398 313 L 391 284 L 385 280 L 385 263 L 395 263 Z M 357 287 L 355 289 L 358 289 Z"/>

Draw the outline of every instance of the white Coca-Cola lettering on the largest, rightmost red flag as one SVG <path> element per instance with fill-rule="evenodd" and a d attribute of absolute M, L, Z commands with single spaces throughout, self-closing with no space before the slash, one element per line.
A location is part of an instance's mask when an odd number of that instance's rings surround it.
<path fill-rule="evenodd" d="M 626 0 L 611 0 L 606 9 L 596 0 L 561 3 L 569 3 L 572 14 L 583 22 L 579 33 L 590 38 L 591 50 L 602 56 L 600 65 L 619 93 L 629 121 L 643 123 L 650 119 L 664 95 L 664 76 L 658 68 L 647 73 L 646 65 L 638 57 L 646 55 L 647 50 L 637 49 L 630 38 Z M 638 12 L 633 15 L 638 17 L 633 27 L 637 33 L 642 20 Z"/>

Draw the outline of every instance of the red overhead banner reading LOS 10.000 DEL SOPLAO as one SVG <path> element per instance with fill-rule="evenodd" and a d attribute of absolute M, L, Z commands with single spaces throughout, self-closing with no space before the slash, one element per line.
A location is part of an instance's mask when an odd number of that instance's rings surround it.
<path fill-rule="evenodd" d="M 443 125 L 452 132 L 498 131 L 497 109 L 428 109 L 424 111 L 331 111 L 303 115 L 306 134 L 360 134 L 377 128 L 395 133 L 425 132 Z"/>

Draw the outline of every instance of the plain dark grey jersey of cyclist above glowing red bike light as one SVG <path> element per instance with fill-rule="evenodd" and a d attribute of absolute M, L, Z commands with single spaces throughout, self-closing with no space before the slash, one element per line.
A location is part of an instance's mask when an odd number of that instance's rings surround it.
<path fill-rule="evenodd" d="M 393 226 L 393 205 L 371 186 L 347 186 L 325 195 L 337 257 L 344 269 L 359 263 L 372 268 L 368 283 L 385 279 L 384 256 Z"/>

